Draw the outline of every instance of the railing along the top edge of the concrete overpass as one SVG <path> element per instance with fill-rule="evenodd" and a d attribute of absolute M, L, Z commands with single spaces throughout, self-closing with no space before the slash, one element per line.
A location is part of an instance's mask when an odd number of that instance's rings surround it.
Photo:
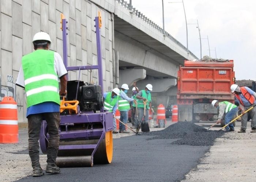
<path fill-rule="evenodd" d="M 124 8 L 128 9 L 129 11 L 132 11 L 136 16 L 138 16 L 140 19 L 142 19 L 143 21 L 145 21 L 147 24 L 151 25 L 151 27 L 157 29 L 159 32 L 165 34 L 165 36 L 167 36 L 170 40 L 172 40 L 174 43 L 176 43 L 178 46 L 180 46 L 182 49 L 184 49 L 185 51 L 187 51 L 187 47 L 183 46 L 178 40 L 176 40 L 172 35 L 170 35 L 168 32 L 164 31 L 162 29 L 162 27 L 160 27 L 159 25 L 157 25 L 156 23 L 154 23 L 152 20 L 148 19 L 147 16 L 143 15 L 143 13 L 141 13 L 140 11 L 138 11 L 138 9 L 133 8 L 132 6 L 130 7 L 130 4 L 127 3 L 127 1 L 124 0 L 116 0 L 119 4 L 121 4 Z M 188 51 L 189 54 L 191 54 L 192 56 L 194 56 L 196 58 L 196 56 L 191 52 Z"/>

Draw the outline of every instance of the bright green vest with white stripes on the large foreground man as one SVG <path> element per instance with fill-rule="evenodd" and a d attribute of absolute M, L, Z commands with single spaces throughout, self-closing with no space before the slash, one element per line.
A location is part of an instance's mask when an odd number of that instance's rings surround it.
<path fill-rule="evenodd" d="M 22 57 L 27 107 L 43 102 L 60 105 L 59 78 L 54 71 L 54 52 L 36 50 Z"/>

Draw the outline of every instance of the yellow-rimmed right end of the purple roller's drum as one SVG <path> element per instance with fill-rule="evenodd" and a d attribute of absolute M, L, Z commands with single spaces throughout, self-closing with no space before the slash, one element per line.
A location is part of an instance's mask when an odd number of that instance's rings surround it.
<path fill-rule="evenodd" d="M 97 151 L 94 154 L 93 161 L 95 164 L 109 164 L 113 157 L 113 137 L 112 131 L 105 134 L 105 138 L 99 144 Z"/>

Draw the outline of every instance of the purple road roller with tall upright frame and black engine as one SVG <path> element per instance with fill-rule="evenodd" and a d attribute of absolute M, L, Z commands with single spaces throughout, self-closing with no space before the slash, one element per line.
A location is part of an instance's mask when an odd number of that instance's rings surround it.
<path fill-rule="evenodd" d="M 95 17 L 98 65 L 67 65 L 67 21 L 61 15 L 63 31 L 63 62 L 67 71 L 98 70 L 98 85 L 82 80 L 69 80 L 67 96 L 60 102 L 60 143 L 56 159 L 59 167 L 92 167 L 108 164 L 113 156 L 113 115 L 103 110 L 103 77 L 101 56 L 101 13 Z M 46 154 L 49 133 L 46 121 L 42 122 L 39 143 Z"/>

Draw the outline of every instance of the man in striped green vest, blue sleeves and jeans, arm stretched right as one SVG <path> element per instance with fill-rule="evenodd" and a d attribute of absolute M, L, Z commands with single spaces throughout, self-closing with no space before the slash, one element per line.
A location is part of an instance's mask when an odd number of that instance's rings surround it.
<path fill-rule="evenodd" d="M 135 99 L 129 98 L 126 94 L 129 90 L 129 87 L 127 84 L 123 84 L 121 86 L 120 91 L 120 98 L 118 100 L 118 110 L 120 111 L 120 121 L 124 124 L 128 121 L 128 111 L 130 110 L 130 103 L 129 102 L 136 102 Z M 125 129 L 125 125 L 123 123 L 119 123 L 119 132 L 120 133 L 129 133 Z"/>

